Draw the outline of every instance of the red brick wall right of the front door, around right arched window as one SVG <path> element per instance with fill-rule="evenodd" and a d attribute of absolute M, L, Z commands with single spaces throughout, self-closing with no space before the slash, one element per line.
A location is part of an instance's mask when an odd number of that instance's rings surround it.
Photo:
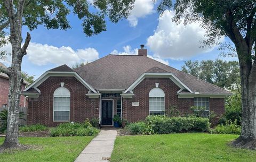
<path fill-rule="evenodd" d="M 158 87 L 165 93 L 165 110 L 170 106 L 177 106 L 181 115 L 190 113 L 194 98 L 178 98 L 177 91 L 180 88 L 169 78 L 146 78 L 133 89 L 133 98 L 123 98 L 123 118 L 130 122 L 145 120 L 149 115 L 149 91 L 155 88 L 155 83 L 159 83 Z M 139 106 L 132 106 L 132 102 L 139 102 Z M 224 107 L 224 98 L 210 98 L 210 110 L 218 116 L 225 112 Z"/>

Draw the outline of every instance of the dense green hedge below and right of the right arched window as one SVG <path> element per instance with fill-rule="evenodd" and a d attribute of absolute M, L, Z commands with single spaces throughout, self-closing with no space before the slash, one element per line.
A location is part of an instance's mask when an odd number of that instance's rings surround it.
<path fill-rule="evenodd" d="M 210 129 L 209 118 L 202 117 L 166 117 L 163 115 L 148 116 L 146 122 L 152 125 L 155 133 L 206 132 Z"/>

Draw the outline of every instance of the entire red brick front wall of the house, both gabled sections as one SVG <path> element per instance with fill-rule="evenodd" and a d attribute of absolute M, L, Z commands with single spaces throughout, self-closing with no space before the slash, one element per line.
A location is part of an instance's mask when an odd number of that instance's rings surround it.
<path fill-rule="evenodd" d="M 70 91 L 70 121 L 83 122 L 86 118 L 99 117 L 99 98 L 88 98 L 85 95 L 88 89 L 82 83 L 71 76 L 51 76 L 38 87 L 41 95 L 38 98 L 29 98 L 28 124 L 41 123 L 55 126 L 61 123 L 53 122 L 53 93 L 60 87 L 60 82 L 65 82 L 64 87 Z M 130 122 L 145 120 L 149 115 L 149 91 L 155 88 L 155 83 L 159 83 L 159 88 L 165 92 L 166 110 L 171 105 L 177 106 L 181 114 L 190 113 L 190 107 L 194 106 L 194 98 L 178 98 L 177 91 L 180 88 L 169 78 L 146 78 L 133 89 L 133 98 L 123 98 L 123 118 Z M 120 98 L 111 99 L 114 99 L 114 114 L 116 114 L 116 102 Z M 139 106 L 132 106 L 132 102 L 139 102 Z M 225 111 L 224 107 L 224 98 L 210 98 L 210 110 L 218 116 Z"/>

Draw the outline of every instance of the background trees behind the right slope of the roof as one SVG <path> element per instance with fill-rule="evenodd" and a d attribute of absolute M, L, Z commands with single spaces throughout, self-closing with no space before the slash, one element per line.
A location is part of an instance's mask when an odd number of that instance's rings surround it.
<path fill-rule="evenodd" d="M 236 61 L 221 59 L 203 60 L 201 62 L 185 61 L 181 67 L 183 72 L 194 75 L 199 79 L 215 84 L 221 88 L 231 89 L 240 84 L 239 64 Z"/>

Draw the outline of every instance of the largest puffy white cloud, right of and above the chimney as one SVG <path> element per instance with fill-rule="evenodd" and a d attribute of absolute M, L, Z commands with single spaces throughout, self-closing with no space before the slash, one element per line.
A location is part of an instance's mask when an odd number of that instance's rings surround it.
<path fill-rule="evenodd" d="M 147 39 L 147 46 L 154 52 L 154 56 L 171 59 L 190 58 L 201 53 L 210 52 L 210 48 L 200 48 L 199 41 L 205 40 L 205 29 L 200 22 L 183 25 L 172 22 L 174 11 L 165 11 L 159 17 L 157 29 L 153 36 Z M 223 41 L 222 38 L 220 41 Z"/>

